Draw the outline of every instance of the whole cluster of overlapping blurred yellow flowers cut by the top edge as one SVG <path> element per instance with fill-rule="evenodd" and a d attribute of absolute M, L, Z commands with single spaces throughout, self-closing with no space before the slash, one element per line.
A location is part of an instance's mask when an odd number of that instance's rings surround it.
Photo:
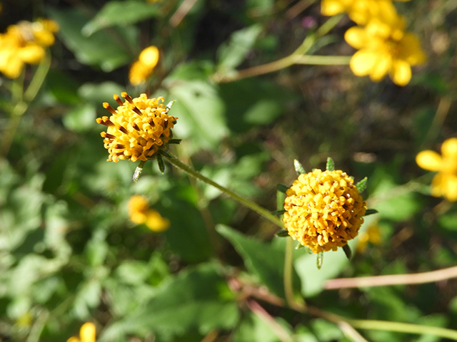
<path fill-rule="evenodd" d="M 405 31 L 406 20 L 390 0 L 323 0 L 321 11 L 325 15 L 346 12 L 358 24 L 344 35 L 358 50 L 350 63 L 356 76 L 378 82 L 388 74 L 393 83 L 406 86 L 411 66 L 426 61 L 420 41 Z"/>

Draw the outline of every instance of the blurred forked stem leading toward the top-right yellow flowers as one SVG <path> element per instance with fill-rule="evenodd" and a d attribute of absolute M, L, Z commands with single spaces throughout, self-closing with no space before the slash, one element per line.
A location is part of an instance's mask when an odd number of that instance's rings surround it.
<path fill-rule="evenodd" d="M 281 59 L 278 59 L 278 61 L 274 61 L 271 63 L 266 63 L 261 66 L 253 66 L 252 68 L 247 68 L 241 71 L 238 71 L 234 73 L 233 75 L 214 75 L 214 81 L 219 82 L 219 83 L 225 83 L 225 82 L 233 82 L 233 81 L 238 81 L 243 78 L 249 78 L 253 76 L 259 76 L 259 75 L 264 75 L 266 73 L 273 73 L 274 71 L 279 71 L 283 68 L 288 68 L 289 66 L 293 66 L 293 64 L 313 64 L 313 63 L 303 63 L 304 57 L 310 57 L 310 56 L 304 56 L 308 51 L 313 47 L 314 43 L 318 40 L 318 38 L 321 38 L 322 36 L 325 36 L 328 31 L 330 31 L 333 27 L 338 24 L 338 22 L 341 20 L 343 16 L 338 15 L 338 16 L 332 16 L 330 19 L 328 19 L 321 27 L 319 27 L 316 30 L 316 33 L 311 33 L 306 36 L 305 40 L 303 43 L 301 43 L 300 46 L 296 49 L 296 51 L 293 51 L 289 56 L 283 57 Z M 328 56 L 329 58 L 333 57 L 338 57 L 338 56 Z M 347 56 L 344 56 L 344 58 L 347 58 Z M 311 58 L 312 60 L 313 58 Z M 300 62 L 301 61 L 301 62 Z M 314 60 L 316 61 L 316 60 Z M 341 64 L 341 61 L 338 61 L 338 64 Z M 318 64 L 318 63 L 316 63 Z M 343 63 L 346 64 L 346 63 Z"/>

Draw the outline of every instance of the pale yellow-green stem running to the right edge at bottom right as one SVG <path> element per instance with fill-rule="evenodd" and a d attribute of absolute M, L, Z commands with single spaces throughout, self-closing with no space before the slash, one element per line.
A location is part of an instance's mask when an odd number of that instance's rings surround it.
<path fill-rule="evenodd" d="M 418 335 L 434 335 L 442 338 L 450 338 L 457 341 L 457 331 L 438 326 L 423 326 L 420 324 L 374 321 L 365 319 L 348 319 L 344 318 L 354 328 L 382 331 L 396 331 L 398 333 L 415 333 Z"/>

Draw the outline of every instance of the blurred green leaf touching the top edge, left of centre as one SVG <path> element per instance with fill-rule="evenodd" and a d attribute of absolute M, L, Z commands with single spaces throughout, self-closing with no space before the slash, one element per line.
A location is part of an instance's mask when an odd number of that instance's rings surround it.
<path fill-rule="evenodd" d="M 101 28 L 128 26 L 161 14 L 159 6 L 145 1 L 109 1 L 96 16 L 82 28 L 84 36 L 91 36 Z"/>

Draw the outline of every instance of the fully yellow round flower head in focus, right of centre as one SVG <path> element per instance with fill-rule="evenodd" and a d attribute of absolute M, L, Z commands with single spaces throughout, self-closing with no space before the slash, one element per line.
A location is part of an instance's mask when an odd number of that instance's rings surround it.
<path fill-rule="evenodd" d="M 300 175 L 286 195 L 284 228 L 311 252 L 335 251 L 357 236 L 366 202 L 345 172 L 314 170 Z"/>

